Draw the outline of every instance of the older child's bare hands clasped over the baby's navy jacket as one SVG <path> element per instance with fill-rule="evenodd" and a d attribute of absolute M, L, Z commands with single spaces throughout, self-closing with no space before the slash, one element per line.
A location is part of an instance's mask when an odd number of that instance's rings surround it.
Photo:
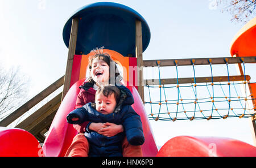
<path fill-rule="evenodd" d="M 114 123 L 104 123 L 104 127 L 98 131 L 101 135 L 108 137 L 117 135 L 120 132 L 123 132 L 123 126 Z"/>

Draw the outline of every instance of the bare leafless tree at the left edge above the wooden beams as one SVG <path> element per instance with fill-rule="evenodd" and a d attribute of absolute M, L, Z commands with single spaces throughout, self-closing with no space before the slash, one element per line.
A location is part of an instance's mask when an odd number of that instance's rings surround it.
<path fill-rule="evenodd" d="M 0 65 L 0 120 L 27 100 L 28 78 L 19 68 L 5 70 Z"/>

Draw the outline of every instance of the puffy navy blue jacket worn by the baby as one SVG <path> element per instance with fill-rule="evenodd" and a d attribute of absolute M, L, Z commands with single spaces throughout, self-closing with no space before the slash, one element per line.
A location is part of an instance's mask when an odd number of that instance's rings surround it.
<path fill-rule="evenodd" d="M 122 141 L 125 135 L 131 145 L 142 145 L 144 143 L 141 117 L 131 107 L 134 104 L 133 95 L 124 86 L 118 88 L 121 91 L 121 96 L 114 113 L 101 114 L 94 109 L 94 104 L 88 103 L 71 111 L 67 116 L 67 122 L 71 124 L 81 124 L 89 120 L 96 123 L 110 122 L 123 125 L 125 132 L 112 137 L 94 131 L 85 132 L 86 139 L 90 144 L 89 156 L 122 156 Z M 72 121 L 72 118 L 79 118 L 79 120 Z"/>

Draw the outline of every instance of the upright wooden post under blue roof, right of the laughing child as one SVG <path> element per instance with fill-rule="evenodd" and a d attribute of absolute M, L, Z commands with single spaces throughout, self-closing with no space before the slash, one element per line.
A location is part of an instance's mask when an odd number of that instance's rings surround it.
<path fill-rule="evenodd" d="M 141 21 L 135 21 L 136 36 L 135 36 L 135 52 L 137 58 L 137 76 L 138 76 L 138 92 L 144 103 L 144 84 L 143 84 L 143 57 L 142 57 L 142 25 Z"/>

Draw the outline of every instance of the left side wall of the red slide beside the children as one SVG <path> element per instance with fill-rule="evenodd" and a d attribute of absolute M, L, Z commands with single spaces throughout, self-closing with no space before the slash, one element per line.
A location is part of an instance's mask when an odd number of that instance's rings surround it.
<path fill-rule="evenodd" d="M 73 137 L 77 134 L 73 125 L 67 123 L 66 117 L 70 111 L 75 109 L 76 98 L 80 91 L 79 86 L 83 81 L 84 79 L 73 84 L 60 104 L 43 144 L 46 156 L 64 156 Z"/>

